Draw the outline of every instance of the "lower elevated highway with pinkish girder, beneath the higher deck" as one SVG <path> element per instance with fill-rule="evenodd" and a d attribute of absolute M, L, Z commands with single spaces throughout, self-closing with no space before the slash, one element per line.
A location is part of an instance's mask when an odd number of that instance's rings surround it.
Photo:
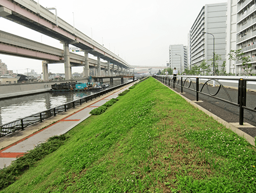
<path fill-rule="evenodd" d="M 0 30 L 0 53 L 13 56 L 22 56 L 24 58 L 45 60 L 45 63 L 64 63 L 64 51 L 62 49 L 50 47 L 49 45 L 41 44 L 36 41 L 29 40 L 27 38 L 19 37 L 5 31 Z M 70 53 L 70 66 L 85 66 L 86 57 L 77 55 L 76 53 Z M 95 68 L 98 66 L 98 61 L 88 58 L 89 68 Z M 123 73 L 118 66 L 109 65 L 107 62 L 100 62 L 101 70 L 108 70 L 108 76 L 116 72 Z M 44 81 L 48 81 L 48 69 L 45 65 Z"/>

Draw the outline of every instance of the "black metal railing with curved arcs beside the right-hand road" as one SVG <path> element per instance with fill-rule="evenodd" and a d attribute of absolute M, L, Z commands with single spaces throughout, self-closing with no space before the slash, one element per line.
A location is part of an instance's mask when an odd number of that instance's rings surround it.
<path fill-rule="evenodd" d="M 196 101 L 199 101 L 199 94 L 202 94 L 202 95 L 213 97 L 215 99 L 219 99 L 223 102 L 230 103 L 234 106 L 238 106 L 240 125 L 243 125 L 244 123 L 244 109 L 250 110 L 251 112 L 256 112 L 256 108 L 251 108 L 249 106 L 246 106 L 247 84 L 248 82 L 256 83 L 256 78 L 246 77 L 246 76 L 245 77 L 177 76 L 177 80 L 176 82 L 174 82 L 173 76 L 153 76 L 153 77 L 161 81 L 163 84 L 169 85 L 169 87 L 171 85 L 173 88 L 175 88 L 175 86 L 179 86 L 182 93 L 183 93 L 183 88 L 194 91 Z M 238 91 L 237 102 L 232 101 L 232 98 L 230 97 L 229 92 L 227 92 L 225 85 L 221 83 L 221 80 L 233 81 L 234 82 L 233 84 L 237 84 L 237 91 Z M 215 84 L 215 83 L 218 84 L 217 85 L 218 88 L 216 89 L 215 94 L 212 94 L 211 91 L 209 90 L 208 86 L 210 82 L 212 84 Z M 216 96 L 219 94 L 221 88 L 223 88 L 223 90 L 226 93 L 226 99 Z M 203 92 L 203 90 L 206 90 L 208 93 Z"/>

